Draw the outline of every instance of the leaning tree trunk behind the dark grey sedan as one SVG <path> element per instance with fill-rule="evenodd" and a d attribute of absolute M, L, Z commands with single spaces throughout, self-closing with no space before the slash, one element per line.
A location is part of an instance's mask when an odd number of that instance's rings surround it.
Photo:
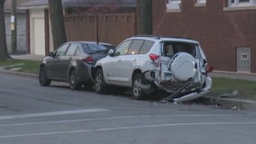
<path fill-rule="evenodd" d="M 66 42 L 66 31 L 61 0 L 49 0 L 50 23 L 54 49 Z"/>

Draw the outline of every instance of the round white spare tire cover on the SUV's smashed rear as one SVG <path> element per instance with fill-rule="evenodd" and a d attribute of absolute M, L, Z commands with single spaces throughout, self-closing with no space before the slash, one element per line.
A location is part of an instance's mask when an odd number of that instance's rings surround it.
<path fill-rule="evenodd" d="M 187 52 L 175 54 L 170 61 L 169 70 L 179 81 L 187 81 L 197 74 L 196 59 Z"/>

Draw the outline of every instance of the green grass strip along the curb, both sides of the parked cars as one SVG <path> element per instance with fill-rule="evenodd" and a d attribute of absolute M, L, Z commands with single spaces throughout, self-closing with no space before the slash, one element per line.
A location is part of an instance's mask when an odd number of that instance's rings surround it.
<path fill-rule="evenodd" d="M 17 70 L 24 73 L 38 74 L 40 61 L 33 60 L 21 60 L 21 59 L 6 59 L 0 60 L 0 67 L 10 66 L 16 64 L 23 64 L 19 67 L 21 69 Z M 7 67 L 9 69 L 14 67 Z M 213 86 L 208 95 L 219 95 L 219 94 L 229 94 L 233 90 L 238 91 L 238 98 L 249 99 L 256 101 L 256 82 L 248 80 L 238 80 L 229 78 L 213 78 Z"/>

